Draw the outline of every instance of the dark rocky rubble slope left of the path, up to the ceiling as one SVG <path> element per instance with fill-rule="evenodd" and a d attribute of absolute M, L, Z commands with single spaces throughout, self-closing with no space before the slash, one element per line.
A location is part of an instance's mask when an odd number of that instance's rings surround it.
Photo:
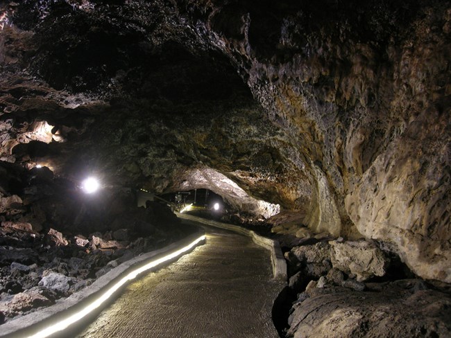
<path fill-rule="evenodd" d="M 10 187 L 3 185 L 0 209 L 2 321 L 51 305 L 191 231 L 168 206 L 138 208 L 121 190 L 104 190 L 86 203 L 70 182 L 51 176 L 43 183 L 40 172 L 14 175 L 22 182 L 18 195 L 6 195 Z"/>

